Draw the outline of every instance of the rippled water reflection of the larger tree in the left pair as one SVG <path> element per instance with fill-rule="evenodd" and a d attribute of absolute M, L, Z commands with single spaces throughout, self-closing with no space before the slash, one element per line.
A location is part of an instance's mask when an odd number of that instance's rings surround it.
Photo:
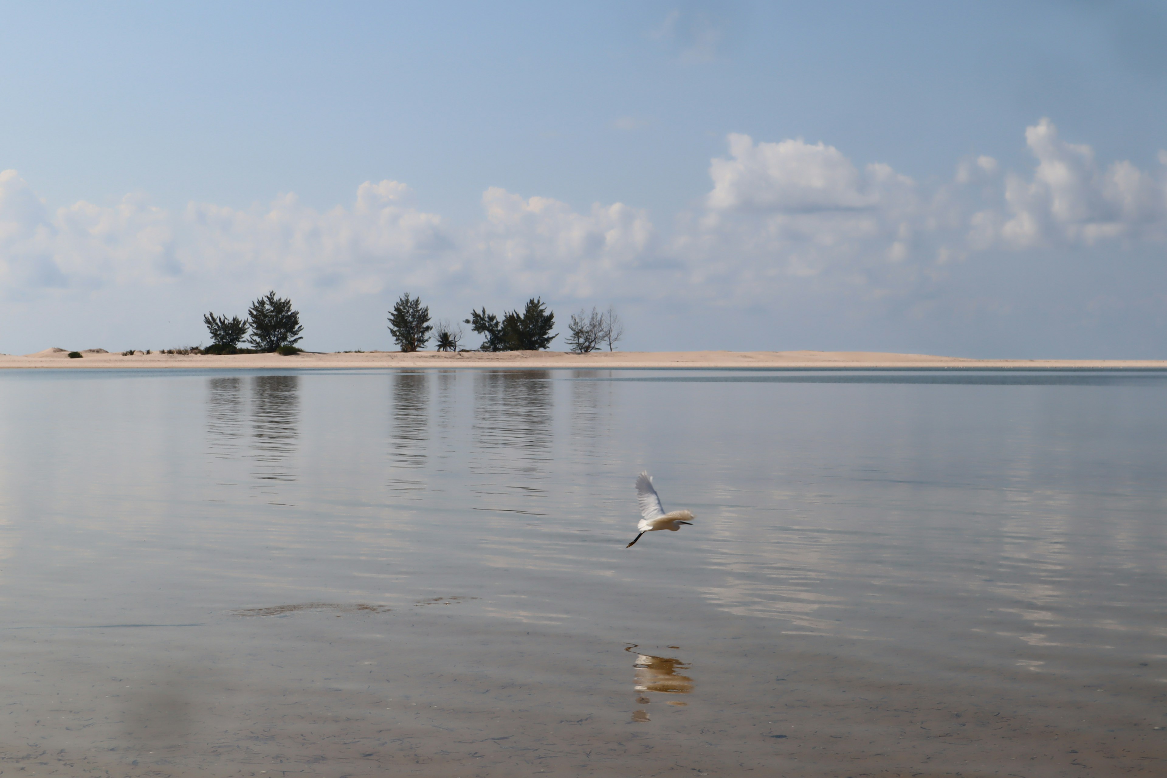
<path fill-rule="evenodd" d="M 251 379 L 253 475 L 264 481 L 295 481 L 300 421 L 300 377 L 256 376 Z"/>

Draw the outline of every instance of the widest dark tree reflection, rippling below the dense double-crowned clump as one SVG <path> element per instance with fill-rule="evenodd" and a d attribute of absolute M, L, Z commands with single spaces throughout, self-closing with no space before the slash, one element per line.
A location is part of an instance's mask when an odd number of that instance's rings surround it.
<path fill-rule="evenodd" d="M 471 471 L 537 477 L 552 457 L 553 386 L 546 370 L 478 373 Z"/>

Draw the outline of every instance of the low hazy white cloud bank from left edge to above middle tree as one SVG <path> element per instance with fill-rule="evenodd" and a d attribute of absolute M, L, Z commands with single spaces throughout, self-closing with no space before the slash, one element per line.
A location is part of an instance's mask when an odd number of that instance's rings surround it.
<path fill-rule="evenodd" d="M 424 282 L 450 271 L 441 217 L 407 204 L 408 188 L 366 182 L 351 208 L 317 211 L 293 194 L 238 210 L 191 203 L 181 213 L 126 196 L 50 211 L 14 170 L 0 173 L 0 280 L 8 294 L 41 288 L 215 281 L 293 285 L 342 294 L 385 279 Z"/>

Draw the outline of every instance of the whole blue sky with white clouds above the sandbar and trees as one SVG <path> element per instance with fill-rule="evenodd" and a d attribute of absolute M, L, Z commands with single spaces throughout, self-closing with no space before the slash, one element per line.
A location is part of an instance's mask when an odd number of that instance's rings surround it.
<path fill-rule="evenodd" d="M 1167 358 L 1165 40 L 1138 0 L 5 2 L 0 352 L 274 289 L 322 351 L 408 292 L 612 306 L 624 350 Z"/>

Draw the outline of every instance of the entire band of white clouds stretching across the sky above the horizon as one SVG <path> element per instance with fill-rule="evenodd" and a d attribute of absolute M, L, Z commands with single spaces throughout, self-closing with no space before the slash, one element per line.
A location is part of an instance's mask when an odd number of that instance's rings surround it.
<path fill-rule="evenodd" d="M 959 276 L 987 258 L 1076 252 L 1103 262 L 1167 245 L 1167 152 L 1151 170 L 1100 163 L 1049 119 L 1025 139 L 1030 169 L 978 156 L 921 183 L 822 141 L 731 134 L 710 163 L 708 191 L 661 223 L 620 202 L 576 210 L 491 187 L 481 219 L 454 225 L 419 210 L 397 181 L 365 182 L 329 210 L 294 194 L 245 210 L 168 211 L 140 195 L 53 209 L 5 170 L 0 299 L 28 315 L 51 302 L 98 304 L 111 290 L 196 310 L 208 301 L 238 308 L 268 288 L 321 308 L 383 306 L 410 290 L 450 304 L 616 300 L 647 316 L 678 306 L 764 311 L 790 300 L 878 316 L 889 306 L 918 314 L 938 295 L 983 296 L 965 294 Z M 725 341 L 741 348 L 729 332 Z"/>

